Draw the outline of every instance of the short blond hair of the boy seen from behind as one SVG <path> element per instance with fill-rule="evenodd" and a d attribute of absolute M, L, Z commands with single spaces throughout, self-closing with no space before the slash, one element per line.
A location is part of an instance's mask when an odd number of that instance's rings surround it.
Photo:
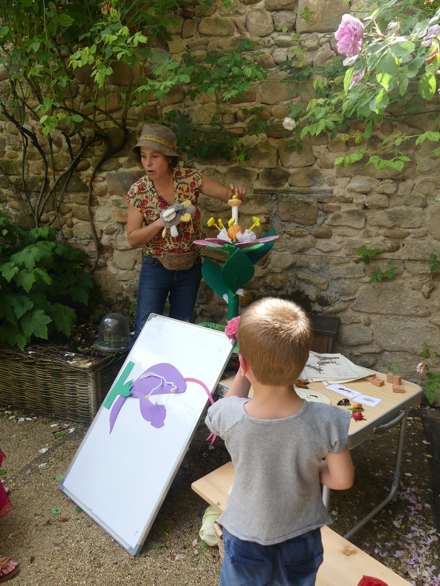
<path fill-rule="evenodd" d="M 290 386 L 309 358 L 313 329 L 299 305 L 266 297 L 243 312 L 237 336 L 239 353 L 259 383 Z"/>

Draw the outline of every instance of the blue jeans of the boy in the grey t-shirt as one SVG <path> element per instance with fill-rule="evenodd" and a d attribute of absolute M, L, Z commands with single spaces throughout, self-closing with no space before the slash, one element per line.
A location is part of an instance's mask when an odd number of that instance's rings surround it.
<path fill-rule="evenodd" d="M 223 529 L 220 586 L 314 586 L 323 561 L 321 530 L 274 546 L 243 541 Z"/>

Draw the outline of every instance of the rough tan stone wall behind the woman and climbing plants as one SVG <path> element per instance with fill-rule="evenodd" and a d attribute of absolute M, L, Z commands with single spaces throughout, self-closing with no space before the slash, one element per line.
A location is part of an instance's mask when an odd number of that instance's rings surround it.
<path fill-rule="evenodd" d="M 300 16 L 306 5 L 316 11 L 313 18 L 320 21 L 316 25 L 311 26 Z M 243 108 L 262 105 L 260 117 L 274 117 L 280 123 L 290 99 L 294 103 L 307 100 L 304 94 L 295 93 L 295 88 L 289 96 L 289 88 L 277 81 L 277 64 L 292 56 L 295 46 L 289 32 L 304 33 L 300 44 L 310 63 L 324 63 L 336 54 L 331 31 L 336 29 L 338 15 L 347 9 L 343 0 L 245 0 L 234 2 L 231 9 L 214 0 L 212 8 L 196 6 L 193 13 L 177 16 L 177 25 L 170 29 L 168 50 L 181 53 L 188 47 L 203 60 L 207 50 L 218 45 L 229 48 L 232 40 L 258 41 L 264 52 L 258 59 L 273 71 L 273 77 L 254 86 L 242 100 L 231 101 L 225 110 L 225 122 L 230 128 L 246 127 L 249 115 Z M 282 28 L 288 32 L 277 32 Z M 124 85 L 124 77 L 126 71 L 116 68 L 111 80 L 114 86 L 107 87 L 107 101 L 114 101 L 107 107 L 113 110 L 118 108 L 117 89 Z M 81 87 L 80 70 L 76 79 Z M 151 100 L 144 113 L 159 118 L 170 108 L 184 108 L 195 124 L 208 124 L 214 114 L 211 99 L 198 96 L 192 102 L 185 97 L 186 90 L 176 87 L 162 100 Z M 311 87 L 309 91 L 313 91 Z M 139 108 L 131 114 L 140 117 Z M 95 275 L 112 299 L 136 295 L 141 265 L 141 250 L 131 249 L 126 236 L 124 197 L 131 183 L 141 176 L 131 156 L 141 124 L 132 124 L 133 136 L 124 151 L 104 163 L 93 188 L 94 221 L 101 243 Z M 418 116 L 412 124 L 428 128 L 431 122 Z M 1 164 L 12 180 L 18 180 L 21 141 L 12 124 L 3 120 L 0 125 Z M 356 128 L 357 122 L 353 124 L 353 130 Z M 403 122 L 385 121 L 374 128 L 371 144 L 379 144 L 392 132 L 405 132 L 406 128 Z M 289 139 L 277 136 L 275 132 L 265 138 L 246 138 L 252 147 L 249 161 L 211 158 L 191 163 L 220 183 L 239 183 L 248 189 L 246 202 L 240 208 L 243 226 L 252 223 L 252 216 L 257 215 L 262 217 L 263 231 L 275 227 L 280 234 L 272 253 L 256 267 L 242 305 L 268 294 L 300 299 L 313 312 L 340 317 L 338 349 L 355 362 L 387 370 L 390 362 L 397 360 L 402 374 L 414 379 L 422 341 L 440 350 L 440 300 L 436 288 L 440 275 L 431 274 L 428 264 L 428 254 L 440 253 L 440 208 L 435 203 L 440 189 L 437 160 L 428 159 L 416 167 L 427 154 L 427 145 L 416 147 L 407 141 L 405 154 L 412 163 L 401 173 L 391 169 L 378 172 L 373 165 L 362 162 L 334 168 L 334 159 L 353 148 L 350 143 L 344 144 L 339 137 L 329 142 L 324 135 L 304 141 L 302 151 L 292 151 L 286 150 Z M 96 145 L 80 163 L 60 210 L 66 239 L 91 256 L 94 246 L 84 182 L 90 165 L 100 155 L 101 147 Z M 66 154 L 61 147 L 56 156 L 62 169 Z M 30 161 L 27 171 L 29 181 L 38 184 L 38 162 Z M 18 203 L 7 183 L 1 181 L 1 206 L 9 214 L 18 214 Z M 229 208 L 222 202 L 201 196 L 200 203 L 203 224 L 210 216 L 228 217 Z M 43 220 L 53 220 L 54 214 L 49 209 Z M 209 229 L 206 234 L 215 235 Z M 365 265 L 356 254 L 362 246 L 380 248 L 382 253 Z M 211 256 L 216 258 L 215 253 Z M 368 285 L 373 271 L 391 266 L 397 267 L 392 281 Z M 221 321 L 225 315 L 225 302 L 202 284 L 197 320 Z"/>

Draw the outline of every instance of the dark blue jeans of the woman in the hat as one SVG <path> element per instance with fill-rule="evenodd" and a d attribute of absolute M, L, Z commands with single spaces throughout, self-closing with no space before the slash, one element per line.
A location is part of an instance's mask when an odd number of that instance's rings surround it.
<path fill-rule="evenodd" d="M 191 268 L 169 271 L 155 257 L 144 256 L 137 294 L 136 321 L 131 346 L 150 314 L 162 315 L 170 297 L 170 318 L 189 321 L 202 278 L 202 259 L 197 257 Z"/>

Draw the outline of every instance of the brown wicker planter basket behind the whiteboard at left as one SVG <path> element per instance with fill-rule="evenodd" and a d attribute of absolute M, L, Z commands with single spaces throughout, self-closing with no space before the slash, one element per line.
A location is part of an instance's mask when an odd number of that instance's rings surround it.
<path fill-rule="evenodd" d="M 90 355 L 54 346 L 0 344 L 0 405 L 90 423 L 127 352 Z"/>

